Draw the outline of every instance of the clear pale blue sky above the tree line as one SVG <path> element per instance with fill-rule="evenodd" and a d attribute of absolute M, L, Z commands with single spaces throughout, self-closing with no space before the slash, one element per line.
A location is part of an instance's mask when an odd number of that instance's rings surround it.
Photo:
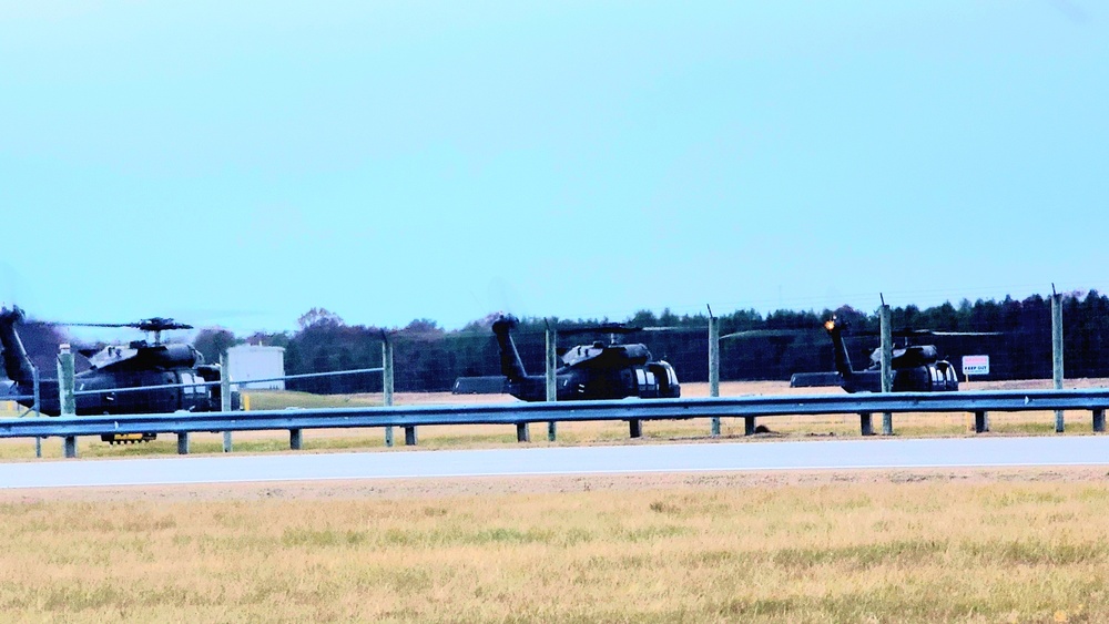
<path fill-rule="evenodd" d="M 0 0 L 0 301 L 240 335 L 1109 291 L 1109 9 Z"/>

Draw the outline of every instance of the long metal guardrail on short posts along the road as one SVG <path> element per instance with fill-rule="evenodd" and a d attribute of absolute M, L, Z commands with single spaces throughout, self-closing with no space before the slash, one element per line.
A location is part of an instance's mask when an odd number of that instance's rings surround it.
<path fill-rule="evenodd" d="M 857 413 L 862 433 L 871 434 L 873 412 L 969 412 L 975 415 L 975 431 L 983 432 L 988 428 L 988 412 L 1049 410 L 1088 410 L 1093 430 L 1105 431 L 1106 408 L 1109 389 L 628 399 L 12 419 L 0 421 L 0 438 L 61 437 L 67 457 L 75 457 L 77 437 L 105 433 L 175 433 L 179 452 L 187 453 L 189 433 L 199 431 L 288 430 L 291 448 L 298 449 L 304 429 L 404 427 L 406 443 L 415 444 L 415 428 L 431 424 L 515 424 L 517 439 L 528 441 L 531 422 L 622 420 L 629 422 L 634 438 L 641 436 L 643 420 L 741 417 L 750 434 L 755 418 Z"/>

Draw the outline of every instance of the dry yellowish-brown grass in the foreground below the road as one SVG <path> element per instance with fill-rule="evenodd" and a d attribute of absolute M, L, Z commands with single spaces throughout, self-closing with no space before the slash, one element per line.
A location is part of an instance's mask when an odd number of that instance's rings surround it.
<path fill-rule="evenodd" d="M 8 494 L 0 610 L 67 622 L 1109 621 L 1103 472 L 857 474 Z"/>

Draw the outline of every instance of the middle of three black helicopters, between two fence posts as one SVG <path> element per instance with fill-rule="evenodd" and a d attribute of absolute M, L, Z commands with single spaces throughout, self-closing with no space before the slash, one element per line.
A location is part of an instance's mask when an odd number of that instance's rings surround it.
<path fill-rule="evenodd" d="M 528 375 L 520 354 L 516 350 L 511 330 L 517 319 L 502 316 L 492 324 L 492 333 L 500 347 L 500 369 L 505 391 L 525 401 L 547 400 L 547 377 Z M 561 330 L 560 334 L 629 334 L 638 328 L 608 325 L 593 328 Z M 644 399 L 676 398 L 681 385 L 674 368 L 663 360 L 652 360 L 645 345 L 593 342 L 567 349 L 561 355 L 561 366 L 556 370 L 557 400 L 590 399 Z"/>

